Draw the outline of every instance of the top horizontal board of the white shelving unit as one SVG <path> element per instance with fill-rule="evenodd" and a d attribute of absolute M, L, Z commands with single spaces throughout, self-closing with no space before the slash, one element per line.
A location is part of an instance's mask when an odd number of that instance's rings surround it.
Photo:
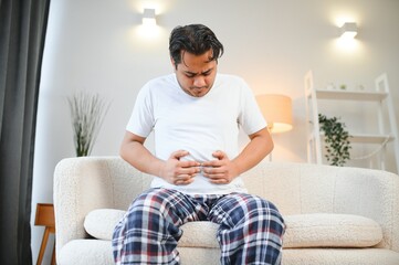
<path fill-rule="evenodd" d="M 387 97 L 385 92 L 355 92 L 355 91 L 327 91 L 316 89 L 319 99 L 338 99 L 338 100 L 370 100 L 378 102 Z"/>

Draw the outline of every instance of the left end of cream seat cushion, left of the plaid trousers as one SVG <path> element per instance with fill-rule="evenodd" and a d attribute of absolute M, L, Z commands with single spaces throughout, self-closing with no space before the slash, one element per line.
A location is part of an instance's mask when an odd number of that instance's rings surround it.
<path fill-rule="evenodd" d="M 116 209 L 96 209 L 86 215 L 83 225 L 91 236 L 112 240 L 114 229 L 125 213 L 126 211 Z"/>

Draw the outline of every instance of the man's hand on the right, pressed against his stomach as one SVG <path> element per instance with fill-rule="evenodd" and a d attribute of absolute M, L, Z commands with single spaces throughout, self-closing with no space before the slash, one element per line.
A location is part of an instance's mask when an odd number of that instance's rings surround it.
<path fill-rule="evenodd" d="M 222 151 L 212 153 L 218 160 L 202 163 L 203 176 L 214 184 L 228 184 L 240 174 L 237 166 Z"/>

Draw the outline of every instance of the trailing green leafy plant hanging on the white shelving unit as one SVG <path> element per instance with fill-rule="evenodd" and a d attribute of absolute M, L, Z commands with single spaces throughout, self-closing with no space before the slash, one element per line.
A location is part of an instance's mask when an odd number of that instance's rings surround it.
<path fill-rule="evenodd" d="M 326 159 L 332 166 L 343 167 L 350 159 L 349 132 L 337 117 L 328 118 L 318 114 L 321 131 L 324 132 Z"/>

